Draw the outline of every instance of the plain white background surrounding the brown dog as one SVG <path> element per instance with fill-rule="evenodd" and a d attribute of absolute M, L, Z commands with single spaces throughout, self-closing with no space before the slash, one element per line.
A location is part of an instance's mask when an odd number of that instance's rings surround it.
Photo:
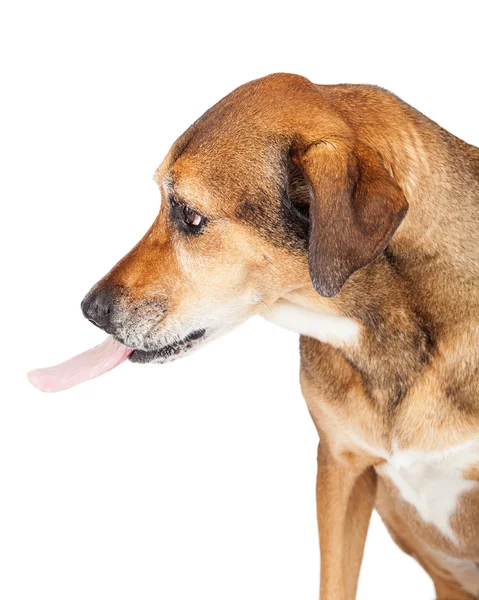
<path fill-rule="evenodd" d="M 155 217 L 175 138 L 245 81 L 379 84 L 477 145 L 475 4 L 3 3 L 2 600 L 317 600 L 295 335 L 252 320 L 59 395 L 25 372 L 103 339 L 83 295 Z M 433 596 L 375 516 L 359 598 Z"/>

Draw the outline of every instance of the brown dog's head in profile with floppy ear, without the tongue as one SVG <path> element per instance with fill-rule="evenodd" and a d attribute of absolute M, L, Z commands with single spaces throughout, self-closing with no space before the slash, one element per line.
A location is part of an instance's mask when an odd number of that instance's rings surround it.
<path fill-rule="evenodd" d="M 196 121 L 156 173 L 160 212 L 85 297 L 85 316 L 165 362 L 309 286 L 336 295 L 388 244 L 406 200 L 321 89 L 246 84 Z"/>

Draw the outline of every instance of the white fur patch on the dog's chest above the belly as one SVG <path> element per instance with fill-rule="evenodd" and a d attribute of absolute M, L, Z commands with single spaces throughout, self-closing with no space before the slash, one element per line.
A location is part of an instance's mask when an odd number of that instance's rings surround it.
<path fill-rule="evenodd" d="M 472 440 L 443 452 L 397 451 L 377 471 L 394 483 L 423 521 L 457 543 L 450 521 L 461 496 L 477 485 L 463 476 L 477 463 L 479 442 Z"/>

